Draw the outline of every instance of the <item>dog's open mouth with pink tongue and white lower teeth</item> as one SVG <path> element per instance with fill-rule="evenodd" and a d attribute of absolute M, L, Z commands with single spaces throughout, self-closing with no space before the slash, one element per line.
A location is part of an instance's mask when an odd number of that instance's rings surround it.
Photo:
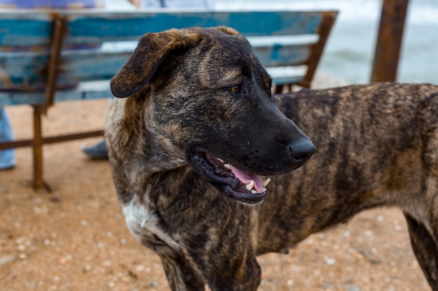
<path fill-rule="evenodd" d="M 266 186 L 271 181 L 269 178 L 262 180 L 255 174 L 248 174 L 203 151 L 196 151 L 192 162 L 213 186 L 225 195 L 248 204 L 262 202 Z"/>

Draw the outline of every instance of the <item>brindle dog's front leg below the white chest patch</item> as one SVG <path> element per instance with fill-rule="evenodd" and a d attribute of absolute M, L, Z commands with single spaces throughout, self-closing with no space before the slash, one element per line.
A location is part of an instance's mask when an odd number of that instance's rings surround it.
<path fill-rule="evenodd" d="M 180 255 L 160 254 L 167 281 L 172 291 L 204 291 L 204 280 Z"/>

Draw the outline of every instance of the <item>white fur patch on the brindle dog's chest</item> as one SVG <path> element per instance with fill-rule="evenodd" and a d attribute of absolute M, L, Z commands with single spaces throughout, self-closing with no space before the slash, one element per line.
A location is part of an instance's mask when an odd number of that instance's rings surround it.
<path fill-rule="evenodd" d="M 129 230 L 142 244 L 153 248 L 159 253 L 178 250 L 180 245 L 160 227 L 159 216 L 148 203 L 148 195 L 139 197 L 134 195 L 132 200 L 123 205 L 125 221 Z"/>

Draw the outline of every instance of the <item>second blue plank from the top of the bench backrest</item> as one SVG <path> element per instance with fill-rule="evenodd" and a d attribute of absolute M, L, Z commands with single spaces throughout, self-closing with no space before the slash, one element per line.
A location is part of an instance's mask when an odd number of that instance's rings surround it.
<path fill-rule="evenodd" d="M 133 45 L 134 47 L 135 45 Z M 310 56 L 310 45 L 257 46 L 255 54 L 263 66 L 290 66 L 303 64 Z M 74 84 L 83 81 L 109 80 L 118 73 L 131 55 L 129 50 L 71 50 L 62 53 L 57 84 Z M 44 87 L 48 53 L 0 53 L 0 89 Z"/>

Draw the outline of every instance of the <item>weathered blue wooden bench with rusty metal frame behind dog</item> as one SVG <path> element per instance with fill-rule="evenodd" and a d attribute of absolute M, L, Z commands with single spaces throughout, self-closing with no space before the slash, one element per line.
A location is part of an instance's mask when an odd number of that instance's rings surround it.
<path fill-rule="evenodd" d="M 43 137 L 42 115 L 55 102 L 112 96 L 109 80 L 144 33 L 183 27 L 233 27 L 248 37 L 276 86 L 309 87 L 336 17 L 334 10 L 2 10 L 0 107 L 33 106 L 34 137 L 0 143 L 0 149 L 32 147 L 34 188 L 47 186 L 43 180 L 43 144 L 95 137 L 102 135 L 102 130 Z M 78 44 L 85 46 L 68 49 Z M 87 47 L 95 44 L 101 45 Z M 71 88 L 76 83 L 78 86 Z"/>

